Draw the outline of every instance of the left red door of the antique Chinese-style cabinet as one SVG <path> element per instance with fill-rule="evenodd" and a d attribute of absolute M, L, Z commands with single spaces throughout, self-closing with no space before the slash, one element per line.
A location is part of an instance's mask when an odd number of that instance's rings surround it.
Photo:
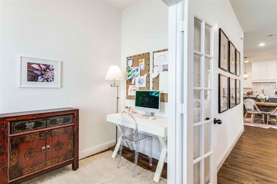
<path fill-rule="evenodd" d="M 45 137 L 38 132 L 10 138 L 10 180 L 46 167 Z"/>

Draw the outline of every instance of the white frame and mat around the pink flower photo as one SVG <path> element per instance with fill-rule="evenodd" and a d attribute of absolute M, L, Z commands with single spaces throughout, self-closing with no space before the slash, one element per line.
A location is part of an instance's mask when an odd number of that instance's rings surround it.
<path fill-rule="evenodd" d="M 28 63 L 41 64 L 41 65 L 53 65 L 53 77 L 52 81 L 28 81 L 30 80 L 30 70 L 28 69 Z M 30 66 L 29 66 L 30 67 Z M 28 73 L 29 71 L 29 73 Z M 42 59 L 30 56 L 18 56 L 18 87 L 29 88 L 60 88 L 61 87 L 61 61 L 53 59 Z M 36 74 L 35 74 L 36 75 Z M 39 74 L 38 74 L 39 75 Z M 36 77 L 36 76 L 31 76 Z M 39 77 L 39 76 L 38 76 Z M 34 79 L 33 78 L 33 79 Z M 41 79 L 41 78 L 40 78 Z"/>

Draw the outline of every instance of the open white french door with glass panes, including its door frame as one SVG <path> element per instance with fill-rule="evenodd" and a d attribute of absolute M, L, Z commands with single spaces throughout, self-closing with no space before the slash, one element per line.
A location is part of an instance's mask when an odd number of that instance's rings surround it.
<path fill-rule="evenodd" d="M 217 28 L 188 7 L 182 0 L 169 8 L 168 183 L 215 184 Z"/>

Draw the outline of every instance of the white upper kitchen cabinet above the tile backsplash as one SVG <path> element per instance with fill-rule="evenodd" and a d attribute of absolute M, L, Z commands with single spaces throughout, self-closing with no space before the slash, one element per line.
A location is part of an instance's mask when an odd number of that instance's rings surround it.
<path fill-rule="evenodd" d="M 276 82 L 276 80 L 276 61 L 252 63 L 252 82 Z"/>

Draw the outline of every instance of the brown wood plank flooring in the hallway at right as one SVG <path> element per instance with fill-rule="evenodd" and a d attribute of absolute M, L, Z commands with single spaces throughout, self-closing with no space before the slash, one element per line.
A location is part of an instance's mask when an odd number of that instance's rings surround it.
<path fill-rule="evenodd" d="M 277 183 L 277 129 L 244 125 L 217 183 Z"/>

